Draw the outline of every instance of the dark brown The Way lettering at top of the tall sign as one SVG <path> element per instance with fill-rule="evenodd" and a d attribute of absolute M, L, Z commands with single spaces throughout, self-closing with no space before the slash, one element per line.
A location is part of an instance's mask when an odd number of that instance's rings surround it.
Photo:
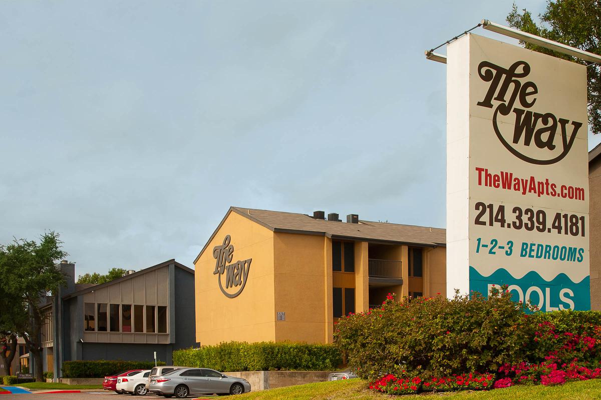
<path fill-rule="evenodd" d="M 530 65 L 525 61 L 516 61 L 509 68 L 503 68 L 489 61 L 480 62 L 478 76 L 484 82 L 490 82 L 490 86 L 484 99 L 477 104 L 492 109 L 493 100 L 501 102 L 493 113 L 492 125 L 496 136 L 511 154 L 531 164 L 555 164 L 570 152 L 582 122 L 572 121 L 570 132 L 569 119 L 557 118 L 550 112 L 529 110 L 536 103 L 537 98 L 534 96 L 538 94 L 538 86 L 534 82 L 520 81 L 529 74 Z M 508 94 L 509 97 L 506 99 Z M 519 106 L 523 108 L 514 107 L 516 101 L 519 101 Z M 499 114 L 508 116 L 511 112 L 515 114 L 513 137 L 511 133 L 502 133 L 498 122 Z M 555 144 L 558 129 L 561 130 L 559 147 Z M 511 139 L 507 140 L 508 137 Z M 537 152 L 535 157 L 529 156 L 520 149 L 530 148 L 532 139 L 536 148 L 543 150 Z"/>

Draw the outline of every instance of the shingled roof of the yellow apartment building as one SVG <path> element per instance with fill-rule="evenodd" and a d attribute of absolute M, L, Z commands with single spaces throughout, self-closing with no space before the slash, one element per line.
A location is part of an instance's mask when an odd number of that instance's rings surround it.
<path fill-rule="evenodd" d="M 391 224 L 388 222 L 373 222 L 359 220 L 359 224 L 347 222 L 326 221 L 314 219 L 307 214 L 257 210 L 241 207 L 230 207 L 221 224 L 213 232 L 194 263 L 198 261 L 207 245 L 230 215 L 236 212 L 257 224 L 263 225 L 275 232 L 301 234 L 319 234 L 340 239 L 355 239 L 372 242 L 406 243 L 421 246 L 446 246 L 446 230 L 442 228 L 421 227 L 416 225 Z"/>

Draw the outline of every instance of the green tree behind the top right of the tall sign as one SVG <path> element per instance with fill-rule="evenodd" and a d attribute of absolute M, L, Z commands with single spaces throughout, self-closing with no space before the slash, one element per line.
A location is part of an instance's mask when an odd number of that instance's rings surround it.
<path fill-rule="evenodd" d="M 534 22 L 532 14 L 523 9 L 513 10 L 507 16 L 510 26 L 520 31 L 548 38 L 587 52 L 601 55 L 601 0 L 548 0 L 544 14 Z M 579 64 L 589 62 L 545 49 L 530 43 L 521 42 L 526 49 L 569 59 Z M 601 67 L 593 64 L 587 68 L 588 78 L 588 123 L 593 133 L 601 132 Z"/>

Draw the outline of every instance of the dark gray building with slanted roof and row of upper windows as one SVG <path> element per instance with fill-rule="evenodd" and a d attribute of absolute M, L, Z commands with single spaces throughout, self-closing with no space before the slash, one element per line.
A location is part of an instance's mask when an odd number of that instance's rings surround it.
<path fill-rule="evenodd" d="M 75 284 L 75 264 L 62 261 L 67 285 L 42 306 L 44 371 L 67 360 L 157 360 L 195 344 L 194 270 L 168 260 L 100 285 Z"/>

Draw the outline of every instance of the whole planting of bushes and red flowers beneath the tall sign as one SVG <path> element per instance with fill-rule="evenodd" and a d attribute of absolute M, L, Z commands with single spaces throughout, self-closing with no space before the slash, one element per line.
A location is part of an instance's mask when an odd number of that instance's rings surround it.
<path fill-rule="evenodd" d="M 359 377 L 388 394 L 601 378 L 601 312 L 526 311 L 506 288 L 487 299 L 388 294 L 381 307 L 341 318 L 334 340 Z"/>

